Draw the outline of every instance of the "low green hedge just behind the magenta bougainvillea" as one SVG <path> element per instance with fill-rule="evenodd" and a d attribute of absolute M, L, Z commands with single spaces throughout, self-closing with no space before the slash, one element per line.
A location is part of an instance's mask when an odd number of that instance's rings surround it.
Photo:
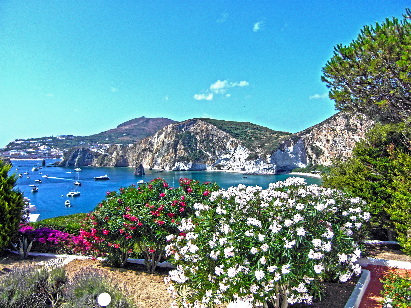
<path fill-rule="evenodd" d="M 83 220 L 87 217 L 85 213 L 77 213 L 66 216 L 46 218 L 35 223 L 31 223 L 34 229 L 50 228 L 67 232 L 69 234 L 79 235 L 80 228 L 84 228 Z"/>

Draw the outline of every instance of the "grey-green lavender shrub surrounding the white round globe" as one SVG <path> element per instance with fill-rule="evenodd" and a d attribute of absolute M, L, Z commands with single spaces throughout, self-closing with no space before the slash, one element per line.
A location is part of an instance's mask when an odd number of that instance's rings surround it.
<path fill-rule="evenodd" d="M 86 267 L 78 271 L 67 287 L 67 301 L 64 308 L 100 307 L 97 303 L 99 294 L 107 292 L 111 303 L 107 308 L 134 308 L 131 294 L 125 285 L 119 285 L 109 278 L 102 269 Z"/>

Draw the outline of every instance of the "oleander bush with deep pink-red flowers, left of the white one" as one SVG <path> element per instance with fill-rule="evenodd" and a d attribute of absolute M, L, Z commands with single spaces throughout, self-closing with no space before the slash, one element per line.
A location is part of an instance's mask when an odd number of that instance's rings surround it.
<path fill-rule="evenodd" d="M 80 235 L 112 266 L 123 267 L 137 247 L 148 271 L 155 271 L 164 257 L 166 235 L 178 232 L 181 219 L 194 214 L 194 203 L 207 203 L 210 193 L 218 188 L 215 183 L 185 178 L 174 189 L 157 178 L 139 187 L 108 191 L 106 199 L 88 216 L 90 231 L 82 230 Z"/>

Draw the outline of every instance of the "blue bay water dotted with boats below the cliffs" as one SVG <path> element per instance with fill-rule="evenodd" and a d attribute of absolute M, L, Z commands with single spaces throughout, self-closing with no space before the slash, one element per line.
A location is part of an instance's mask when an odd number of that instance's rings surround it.
<path fill-rule="evenodd" d="M 46 164 L 53 163 L 54 159 L 46 159 Z M 39 163 L 37 165 L 37 163 Z M 25 197 L 31 200 L 31 203 L 37 207 L 37 214 L 40 214 L 40 219 L 56 217 L 61 215 L 69 215 L 74 213 L 89 212 L 104 199 L 106 191 L 115 191 L 122 186 L 136 184 L 137 181 L 143 179 L 150 181 L 156 177 L 164 178 L 169 185 L 178 186 L 180 177 L 188 177 L 201 182 L 211 181 L 217 182 L 222 188 L 237 186 L 242 183 L 246 186 L 259 185 L 267 188 L 270 183 L 283 181 L 290 175 L 247 175 L 244 179 L 241 173 L 233 172 L 215 172 L 215 171 L 163 171 L 145 170 L 145 176 L 133 175 L 134 168 L 115 168 L 115 167 L 81 167 L 79 172 L 81 186 L 74 186 L 74 167 L 51 167 L 40 169 L 39 171 L 31 171 L 34 166 L 41 166 L 41 161 L 21 161 L 14 160 L 12 172 L 17 170 L 18 173 L 29 172 L 30 179 L 27 175 L 19 177 L 17 180 L 17 188 L 19 188 Z M 39 174 L 42 172 L 42 174 Z M 42 176 L 48 174 L 48 178 Z M 107 175 L 110 179 L 96 181 L 94 177 Z M 312 177 L 304 177 L 307 184 L 321 184 L 321 179 Z M 31 193 L 30 184 L 35 184 L 35 179 L 41 179 L 42 183 L 36 183 L 39 191 Z M 81 194 L 78 197 L 68 198 L 67 193 L 77 189 Z M 63 195 L 63 197 L 60 197 Z M 73 207 L 66 207 L 64 202 L 70 200 Z"/>

